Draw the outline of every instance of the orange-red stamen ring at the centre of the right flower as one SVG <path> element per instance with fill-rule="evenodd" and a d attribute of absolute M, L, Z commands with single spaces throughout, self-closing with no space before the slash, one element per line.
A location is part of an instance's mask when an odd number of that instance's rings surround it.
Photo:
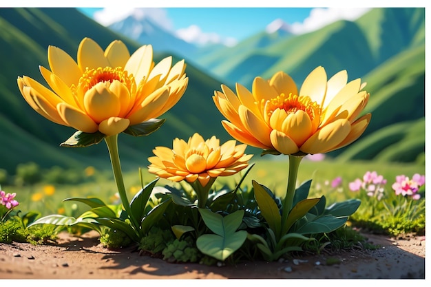
<path fill-rule="evenodd" d="M 286 114 L 294 114 L 295 111 L 302 110 L 308 114 L 311 121 L 315 118 L 320 118 L 322 111 L 320 105 L 313 102 L 309 96 L 297 96 L 292 95 L 292 93 L 288 94 L 288 96 L 280 94 L 277 98 L 271 98 L 271 100 L 269 100 L 266 106 L 269 118 L 271 118 L 275 109 L 284 109 Z"/>

